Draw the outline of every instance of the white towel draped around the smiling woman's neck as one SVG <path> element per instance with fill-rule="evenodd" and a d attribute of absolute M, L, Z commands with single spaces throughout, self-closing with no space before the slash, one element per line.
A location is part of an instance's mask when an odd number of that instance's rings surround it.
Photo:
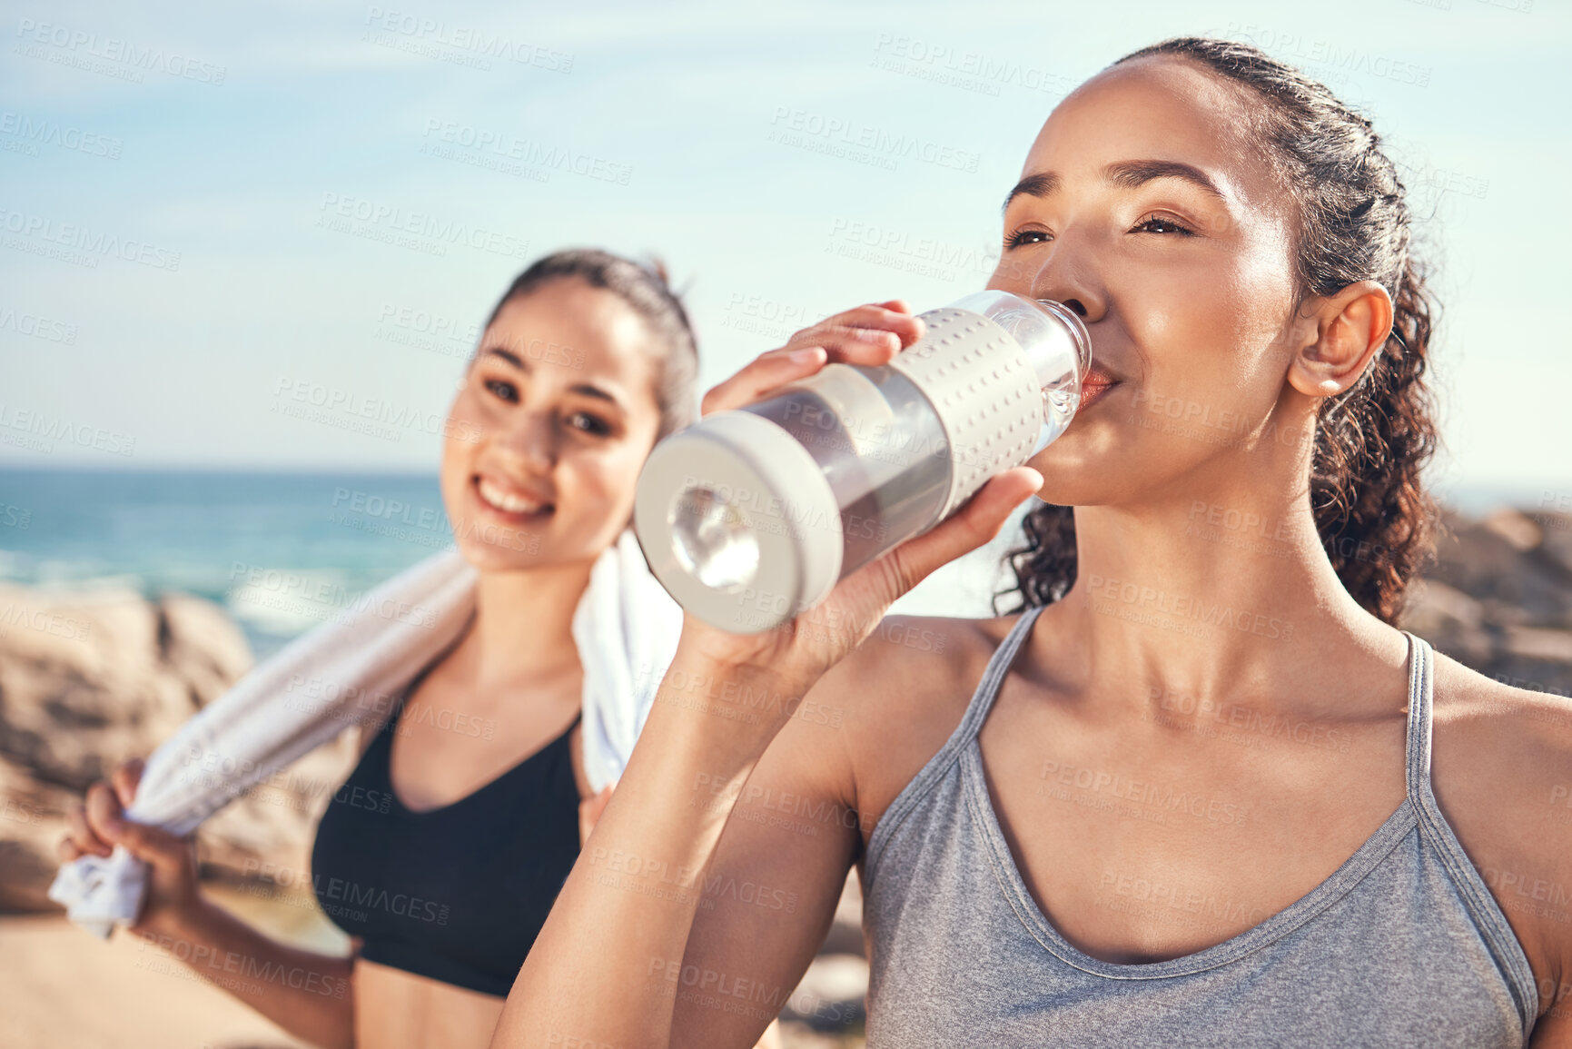
<path fill-rule="evenodd" d="M 129 819 L 190 834 L 226 802 L 351 725 L 380 723 L 391 698 L 448 648 L 475 610 L 475 579 L 457 550 L 395 576 L 335 623 L 296 639 L 209 703 L 148 758 Z M 590 571 L 574 610 L 583 664 L 583 755 L 599 791 L 627 766 L 656 686 L 682 632 L 682 612 L 624 530 Z M 217 760 L 220 778 L 193 775 Z M 61 865 L 49 898 L 107 937 L 141 906 L 146 865 L 123 846 Z"/>

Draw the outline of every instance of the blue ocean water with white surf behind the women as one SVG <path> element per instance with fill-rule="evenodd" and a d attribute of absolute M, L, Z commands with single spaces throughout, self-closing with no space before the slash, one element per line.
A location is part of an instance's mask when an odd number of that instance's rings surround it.
<path fill-rule="evenodd" d="M 1446 492 L 1475 514 L 1536 497 Z M 994 615 L 992 594 L 1012 582 L 1001 558 L 1028 505 L 893 612 Z M 0 579 L 193 593 L 228 610 L 258 659 L 451 543 L 435 473 L 0 469 Z"/>

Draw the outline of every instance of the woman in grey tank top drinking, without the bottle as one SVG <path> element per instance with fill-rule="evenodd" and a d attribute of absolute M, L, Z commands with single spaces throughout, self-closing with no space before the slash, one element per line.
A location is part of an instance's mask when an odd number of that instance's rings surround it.
<path fill-rule="evenodd" d="M 1431 310 L 1369 121 L 1253 47 L 1159 44 L 1049 115 L 1003 245 L 989 288 L 1080 315 L 1094 396 L 789 628 L 685 621 L 494 1044 L 747 1046 L 852 867 L 869 1047 L 1567 1044 L 1572 717 L 1393 626 Z M 704 409 L 921 333 L 849 310 Z M 1016 615 L 874 629 L 1030 495 Z M 1198 543 L 1198 505 L 1280 543 Z"/>

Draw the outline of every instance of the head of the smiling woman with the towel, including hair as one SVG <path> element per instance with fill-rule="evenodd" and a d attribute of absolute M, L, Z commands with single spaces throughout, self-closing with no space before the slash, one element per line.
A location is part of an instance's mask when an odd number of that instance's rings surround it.
<path fill-rule="evenodd" d="M 692 418 L 692 346 L 681 304 L 630 263 L 563 253 L 525 271 L 450 410 L 442 497 L 465 558 L 508 571 L 615 539 L 649 448 Z"/>

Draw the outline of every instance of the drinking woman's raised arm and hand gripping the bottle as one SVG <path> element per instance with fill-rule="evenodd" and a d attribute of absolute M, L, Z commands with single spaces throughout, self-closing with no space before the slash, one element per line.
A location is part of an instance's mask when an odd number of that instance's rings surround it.
<path fill-rule="evenodd" d="M 858 335 L 858 326 L 882 329 L 871 333 L 882 341 Z M 711 390 L 706 412 L 811 374 L 825 357 L 887 363 L 918 335 L 904 305 L 861 307 Z M 791 355 L 806 348 L 822 349 Z M 855 812 L 841 742 L 805 714 L 854 705 L 855 692 L 836 684 L 852 672 L 832 668 L 896 598 L 994 538 L 1041 483 L 1030 469 L 995 477 L 960 513 L 846 577 L 828 601 L 778 631 L 739 637 L 689 617 L 627 771 L 514 981 L 494 1046 L 753 1043 L 822 942 L 858 841 L 855 818 L 789 840 L 753 818 L 783 791 L 810 810 Z M 795 911 L 783 914 L 783 903 L 769 914 L 740 896 L 722 906 L 723 887 L 736 882 L 751 882 L 755 900 L 761 887 L 770 900 L 795 893 Z M 701 906 L 709 898 L 714 906 Z M 711 989 L 726 994 L 711 1002 Z"/>

